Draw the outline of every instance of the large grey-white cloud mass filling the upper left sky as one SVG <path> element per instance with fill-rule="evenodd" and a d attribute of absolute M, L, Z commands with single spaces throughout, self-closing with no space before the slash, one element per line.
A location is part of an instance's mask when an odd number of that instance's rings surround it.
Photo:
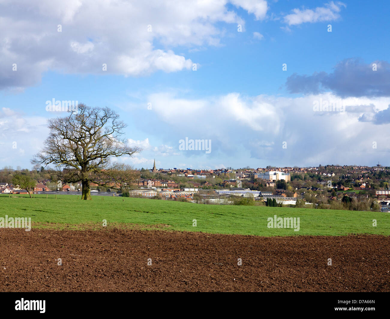
<path fill-rule="evenodd" d="M 242 7 L 256 18 L 266 13 L 265 1 Z M 193 61 L 174 48 L 220 45 L 220 23 L 245 24 L 227 0 L 4 0 L 0 89 L 35 85 L 47 70 L 124 76 L 189 70 Z"/>

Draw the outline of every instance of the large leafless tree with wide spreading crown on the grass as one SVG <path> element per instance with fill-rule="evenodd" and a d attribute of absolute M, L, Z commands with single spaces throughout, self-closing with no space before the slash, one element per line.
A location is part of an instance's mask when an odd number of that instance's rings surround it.
<path fill-rule="evenodd" d="M 111 159 L 141 151 L 126 145 L 122 138 L 126 126 L 110 108 L 79 104 L 77 112 L 48 120 L 50 134 L 31 163 L 55 164 L 58 177 L 67 183 L 81 181 L 82 199 L 90 200 L 90 182 L 111 168 Z"/>

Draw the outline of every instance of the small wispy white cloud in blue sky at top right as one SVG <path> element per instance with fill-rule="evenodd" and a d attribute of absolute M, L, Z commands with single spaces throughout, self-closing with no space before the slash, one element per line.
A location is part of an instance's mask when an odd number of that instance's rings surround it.
<path fill-rule="evenodd" d="M 300 25 L 302 23 L 314 23 L 321 21 L 333 21 L 340 18 L 341 7 L 346 7 L 342 2 L 331 1 L 324 7 L 316 9 L 293 9 L 293 13 L 284 16 L 284 22 L 288 25 Z"/>

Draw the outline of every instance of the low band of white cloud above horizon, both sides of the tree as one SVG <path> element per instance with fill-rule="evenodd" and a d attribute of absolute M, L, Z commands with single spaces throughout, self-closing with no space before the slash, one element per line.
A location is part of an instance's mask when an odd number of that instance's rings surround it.
<path fill-rule="evenodd" d="M 185 94 L 161 92 L 149 96 L 153 108 L 147 110 L 148 116 L 132 130 L 138 129 L 137 134 L 150 127 L 158 130 L 147 129 L 145 139 L 128 139 L 128 145 L 145 151 L 119 160 L 145 168 L 152 167 L 154 158 L 158 167 L 161 167 L 159 161 L 165 159 L 171 167 L 177 167 L 179 164 L 174 164 L 177 162 L 187 163 L 186 167 L 214 168 L 234 167 L 234 163 L 256 167 L 370 164 L 384 162 L 390 155 L 390 136 L 383 134 L 390 129 L 388 97 L 341 98 L 327 92 L 293 98 L 232 92 L 196 99 Z M 314 105 L 319 100 L 330 105 L 342 100 L 345 112 L 315 111 Z M 0 153 L 0 161 L 25 167 L 48 136 L 46 118 L 11 111 L 10 107 L 0 111 L 0 141 L 5 150 Z M 128 111 L 132 115 L 136 112 Z M 126 132 L 128 136 L 131 134 Z M 210 139 L 211 152 L 179 150 L 179 140 L 186 137 Z M 154 146 L 152 138 L 158 139 L 160 146 Z M 16 149 L 12 148 L 13 141 L 17 142 Z M 378 143 L 377 149 L 372 149 L 372 141 Z M 23 157 L 19 153 L 22 150 Z"/>

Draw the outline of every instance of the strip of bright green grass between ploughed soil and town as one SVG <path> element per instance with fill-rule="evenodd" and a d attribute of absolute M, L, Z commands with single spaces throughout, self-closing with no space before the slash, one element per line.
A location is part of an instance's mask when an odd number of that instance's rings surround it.
<path fill-rule="evenodd" d="M 20 195 L 18 195 L 20 196 Z M 119 227 L 202 231 L 220 234 L 258 236 L 286 235 L 390 235 L 390 213 L 367 211 L 319 210 L 265 206 L 228 206 L 181 203 L 153 199 L 92 196 L 92 201 L 74 195 L 28 195 L 9 198 L 0 195 L 0 217 L 31 217 L 32 227 L 75 228 L 79 225 L 101 227 L 102 220 L 121 223 Z M 300 217 L 300 231 L 293 228 L 268 228 L 268 217 Z M 193 219 L 197 226 L 193 227 Z M 372 220 L 377 226 L 372 226 Z M 55 223 L 55 225 L 51 224 Z M 134 225 L 137 224 L 137 225 Z M 77 228 L 76 227 L 76 228 Z"/>

